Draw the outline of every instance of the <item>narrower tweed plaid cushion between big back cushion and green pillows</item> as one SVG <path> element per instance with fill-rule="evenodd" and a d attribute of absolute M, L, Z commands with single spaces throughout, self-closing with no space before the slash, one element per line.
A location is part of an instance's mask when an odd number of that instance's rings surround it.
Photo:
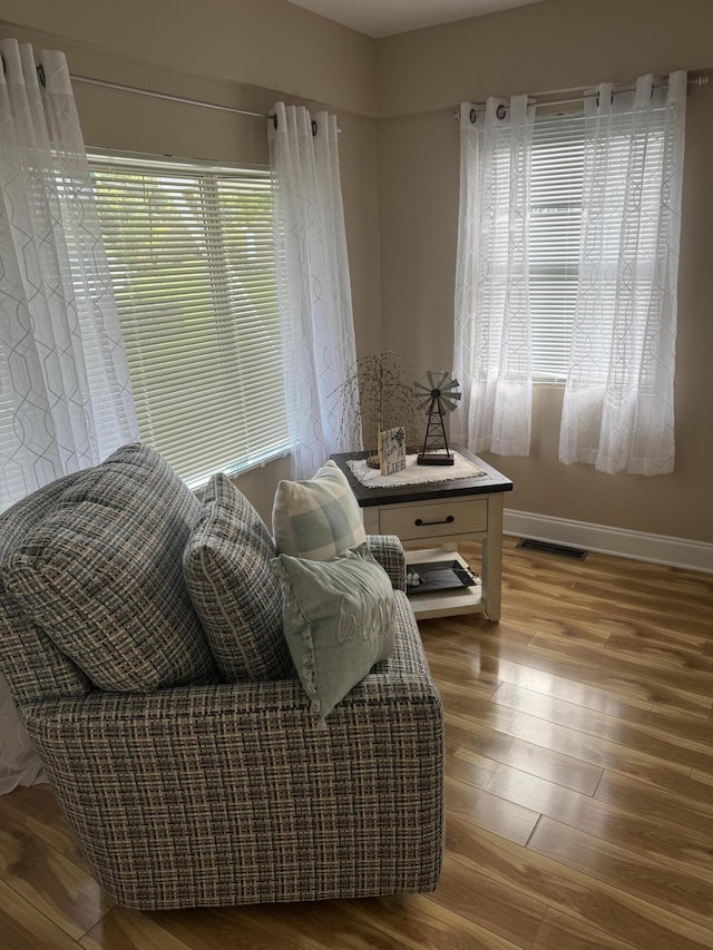
<path fill-rule="evenodd" d="M 275 546 L 264 521 L 225 474 L 214 476 L 184 552 L 184 577 L 228 683 L 294 676 L 282 633 Z"/>

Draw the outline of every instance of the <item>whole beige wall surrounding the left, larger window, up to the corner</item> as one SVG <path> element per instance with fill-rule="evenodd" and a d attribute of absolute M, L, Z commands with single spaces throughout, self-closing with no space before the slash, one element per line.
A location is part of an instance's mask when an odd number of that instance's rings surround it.
<path fill-rule="evenodd" d="M 328 106 L 340 158 L 359 354 L 381 347 L 375 43 L 284 0 L 4 0 L 0 37 L 62 49 L 70 71 L 266 112 Z M 89 146 L 267 164 L 265 121 L 75 84 Z M 238 479 L 270 523 L 287 460 Z"/>

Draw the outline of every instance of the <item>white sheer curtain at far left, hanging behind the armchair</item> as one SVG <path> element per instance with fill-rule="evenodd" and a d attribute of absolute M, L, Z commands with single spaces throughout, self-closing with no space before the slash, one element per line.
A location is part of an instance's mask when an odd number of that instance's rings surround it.
<path fill-rule="evenodd" d="M 0 52 L 1 510 L 138 429 L 64 53 Z M 38 777 L 0 674 L 0 792 Z"/>

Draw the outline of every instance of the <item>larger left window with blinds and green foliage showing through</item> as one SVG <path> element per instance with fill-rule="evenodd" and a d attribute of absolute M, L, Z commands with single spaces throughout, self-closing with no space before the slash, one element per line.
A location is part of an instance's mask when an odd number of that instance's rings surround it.
<path fill-rule="evenodd" d="M 287 451 L 270 173 L 89 158 L 141 439 L 192 487 Z"/>

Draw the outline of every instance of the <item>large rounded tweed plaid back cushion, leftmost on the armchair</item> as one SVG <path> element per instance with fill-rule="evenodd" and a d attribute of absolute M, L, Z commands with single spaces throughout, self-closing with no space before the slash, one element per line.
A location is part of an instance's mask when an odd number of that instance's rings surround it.
<path fill-rule="evenodd" d="M 124 445 L 68 484 L 8 555 L 3 585 L 96 686 L 215 682 L 182 572 L 198 510 L 160 456 Z"/>

